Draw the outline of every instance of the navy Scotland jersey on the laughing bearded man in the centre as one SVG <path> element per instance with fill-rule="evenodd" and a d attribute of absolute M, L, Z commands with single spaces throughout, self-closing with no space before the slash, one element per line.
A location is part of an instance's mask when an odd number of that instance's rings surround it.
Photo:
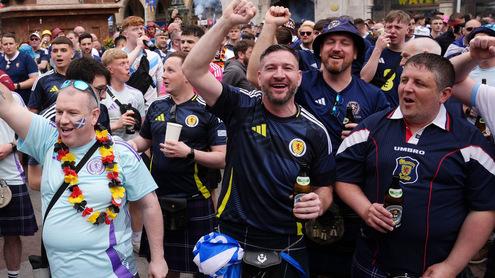
<path fill-rule="evenodd" d="M 334 183 L 327 131 L 297 104 L 295 115 L 281 118 L 265 108 L 261 92 L 222 86 L 210 110 L 225 122 L 229 135 L 217 217 L 225 225 L 268 234 L 302 234 L 289 196 L 301 162 L 309 165 L 311 185 Z"/>

